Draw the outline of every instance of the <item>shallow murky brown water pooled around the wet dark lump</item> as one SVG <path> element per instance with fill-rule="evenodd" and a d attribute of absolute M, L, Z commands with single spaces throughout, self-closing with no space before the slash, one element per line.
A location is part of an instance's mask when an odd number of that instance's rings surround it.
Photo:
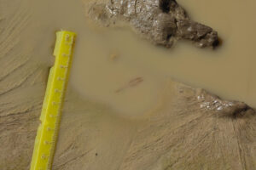
<path fill-rule="evenodd" d="M 36 20 L 39 34 L 44 34 L 42 53 L 49 52 L 55 30 L 78 32 L 70 85 L 86 99 L 110 105 L 124 116 L 141 116 L 154 105 L 166 77 L 172 77 L 256 107 L 253 0 L 179 0 L 193 19 L 218 31 L 223 44 L 214 51 L 190 42 L 178 42 L 172 49 L 154 47 L 128 28 L 89 26 L 79 1 L 41 3 Z"/>

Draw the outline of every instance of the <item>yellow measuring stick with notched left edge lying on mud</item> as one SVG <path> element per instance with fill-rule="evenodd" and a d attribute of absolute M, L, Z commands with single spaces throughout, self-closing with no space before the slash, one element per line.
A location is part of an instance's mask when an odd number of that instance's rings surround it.
<path fill-rule="evenodd" d="M 55 65 L 50 68 L 40 116 L 41 124 L 34 144 L 30 170 L 49 170 L 55 154 L 61 108 L 72 64 L 73 45 L 76 34 L 71 31 L 56 32 Z"/>

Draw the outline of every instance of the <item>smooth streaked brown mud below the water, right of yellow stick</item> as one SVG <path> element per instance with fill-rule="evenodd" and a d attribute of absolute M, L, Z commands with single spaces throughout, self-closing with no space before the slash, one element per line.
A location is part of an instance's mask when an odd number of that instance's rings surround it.
<path fill-rule="evenodd" d="M 241 102 L 220 100 L 172 80 L 140 120 L 119 117 L 106 105 L 72 100 L 65 106 L 54 169 L 256 166 L 256 115 Z M 210 108 L 202 106 L 209 103 Z"/>

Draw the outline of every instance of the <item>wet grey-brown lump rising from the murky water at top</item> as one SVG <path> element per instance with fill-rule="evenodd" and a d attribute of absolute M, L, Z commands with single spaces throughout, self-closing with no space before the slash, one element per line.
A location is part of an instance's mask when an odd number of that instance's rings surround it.
<path fill-rule="evenodd" d="M 218 45 L 217 31 L 190 20 L 175 0 L 110 0 L 93 3 L 89 13 L 105 26 L 125 20 L 138 33 L 167 48 L 179 39 L 193 41 L 200 48 Z"/>

